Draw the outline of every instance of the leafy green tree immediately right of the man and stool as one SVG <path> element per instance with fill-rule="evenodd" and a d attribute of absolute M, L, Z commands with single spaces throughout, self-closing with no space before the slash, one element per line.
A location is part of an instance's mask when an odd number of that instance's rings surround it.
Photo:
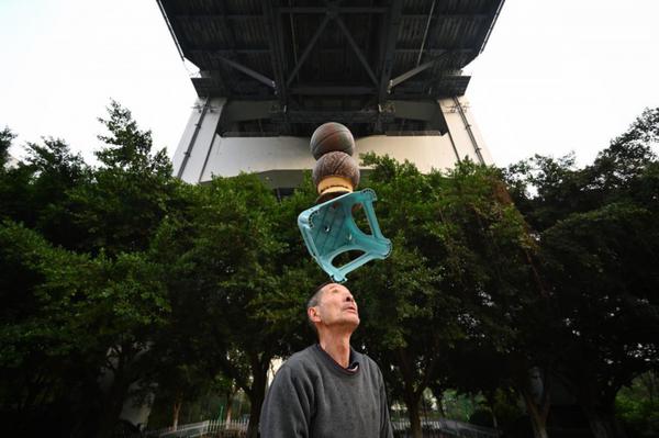
<path fill-rule="evenodd" d="M 494 169 L 460 164 L 422 175 L 411 164 L 365 157 L 378 217 L 394 251 L 354 274 L 364 344 L 421 436 L 420 401 L 442 386 L 457 346 L 515 340 L 525 302 L 537 297 L 534 243 Z"/>

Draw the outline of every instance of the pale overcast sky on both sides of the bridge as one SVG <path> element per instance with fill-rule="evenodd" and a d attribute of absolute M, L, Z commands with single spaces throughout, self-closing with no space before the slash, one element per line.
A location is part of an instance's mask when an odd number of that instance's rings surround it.
<path fill-rule="evenodd" d="M 659 1 L 506 0 L 467 97 L 495 164 L 589 162 L 659 106 Z M 155 0 L 0 0 L 0 128 L 88 161 L 110 98 L 174 154 L 196 93 Z M 20 148 L 12 150 L 21 155 Z"/>

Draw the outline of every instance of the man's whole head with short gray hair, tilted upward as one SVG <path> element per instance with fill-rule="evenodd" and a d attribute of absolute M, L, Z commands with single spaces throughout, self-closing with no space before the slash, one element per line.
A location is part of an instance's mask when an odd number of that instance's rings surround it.
<path fill-rule="evenodd" d="M 325 330 L 353 333 L 359 325 L 357 303 L 343 284 L 319 287 L 306 304 L 306 316 L 319 335 Z"/>

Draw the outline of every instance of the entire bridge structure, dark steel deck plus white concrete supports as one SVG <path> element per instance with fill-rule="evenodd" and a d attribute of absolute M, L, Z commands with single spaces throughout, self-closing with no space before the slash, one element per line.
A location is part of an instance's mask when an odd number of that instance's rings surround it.
<path fill-rule="evenodd" d="M 311 134 L 347 125 L 356 153 L 420 170 L 492 158 L 465 97 L 503 0 L 159 0 L 198 101 L 174 156 L 191 183 L 255 172 L 291 189 Z"/>

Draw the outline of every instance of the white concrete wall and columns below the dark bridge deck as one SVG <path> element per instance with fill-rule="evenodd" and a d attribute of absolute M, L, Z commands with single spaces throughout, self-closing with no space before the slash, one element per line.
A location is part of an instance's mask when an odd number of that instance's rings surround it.
<path fill-rule="evenodd" d="M 484 162 L 492 164 L 468 102 L 463 97 L 459 101 L 468 126 L 465 125 L 453 99 L 440 100 L 437 103 L 442 108 L 450 135 L 376 135 L 358 138 L 356 158 L 359 154 L 375 151 L 378 155 L 389 155 L 399 161 L 414 162 L 422 172 L 454 167 L 457 161 L 456 151 L 460 159 L 469 157 L 479 162 L 476 147 L 469 135 L 471 130 Z M 294 187 L 300 181 L 302 170 L 313 168 L 315 160 L 309 148 L 309 138 L 221 137 L 215 130 L 224 103 L 224 99 L 211 101 L 210 110 L 199 130 L 197 124 L 201 119 L 201 110 L 193 111 L 174 157 L 175 171 L 178 172 L 185 160 L 185 153 L 190 151 L 181 175 L 183 180 L 192 183 L 205 182 L 213 176 L 233 177 L 244 171 L 263 173 L 264 179 L 270 181 L 273 187 Z M 190 147 L 196 130 L 197 138 Z"/>

